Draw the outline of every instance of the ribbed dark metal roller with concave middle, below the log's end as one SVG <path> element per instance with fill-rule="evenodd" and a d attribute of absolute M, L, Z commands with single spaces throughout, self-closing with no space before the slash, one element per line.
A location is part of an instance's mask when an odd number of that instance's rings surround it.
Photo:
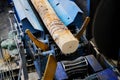
<path fill-rule="evenodd" d="M 88 62 L 85 57 L 79 57 L 72 61 L 61 61 L 67 75 L 70 76 L 76 73 L 87 73 Z"/>

